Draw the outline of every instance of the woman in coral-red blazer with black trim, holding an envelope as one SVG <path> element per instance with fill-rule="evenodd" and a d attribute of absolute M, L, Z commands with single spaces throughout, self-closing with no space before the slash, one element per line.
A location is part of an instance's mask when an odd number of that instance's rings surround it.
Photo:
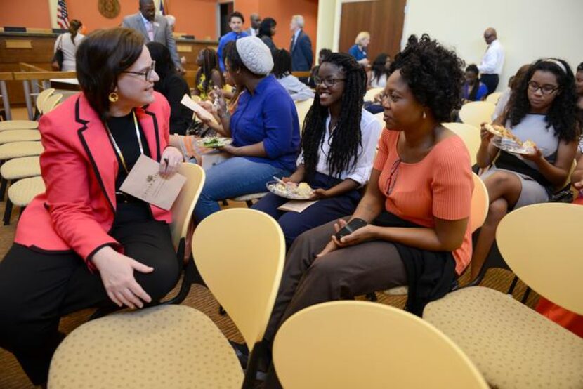
<path fill-rule="evenodd" d="M 46 382 L 60 317 L 90 307 L 141 308 L 178 281 L 171 213 L 119 191 L 140 154 L 176 171 L 169 105 L 143 37 L 90 34 L 77 51 L 81 93 L 42 117 L 46 192 L 22 213 L 0 262 L 0 346 Z"/>

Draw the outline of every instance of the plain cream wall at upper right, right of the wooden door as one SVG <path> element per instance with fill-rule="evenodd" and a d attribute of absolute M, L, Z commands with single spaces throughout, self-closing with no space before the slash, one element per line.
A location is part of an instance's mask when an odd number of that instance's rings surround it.
<path fill-rule="evenodd" d="M 407 0 L 402 42 L 427 32 L 456 49 L 467 64 L 480 63 L 484 29 L 497 29 L 506 51 L 499 90 L 521 65 L 558 57 L 583 62 L 582 0 Z"/>

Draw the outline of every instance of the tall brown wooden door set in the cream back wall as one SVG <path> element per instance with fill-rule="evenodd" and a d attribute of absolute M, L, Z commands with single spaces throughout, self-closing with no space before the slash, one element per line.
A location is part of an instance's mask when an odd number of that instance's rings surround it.
<path fill-rule="evenodd" d="M 391 58 L 400 51 L 405 4 L 407 0 L 369 0 L 342 4 L 339 51 L 348 52 L 356 35 L 368 31 L 371 43 L 368 58 L 372 62 L 379 53 Z"/>

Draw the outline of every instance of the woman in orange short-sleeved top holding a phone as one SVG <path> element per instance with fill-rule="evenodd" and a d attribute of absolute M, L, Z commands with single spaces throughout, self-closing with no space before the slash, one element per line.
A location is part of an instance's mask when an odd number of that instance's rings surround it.
<path fill-rule="evenodd" d="M 365 195 L 352 216 L 304 232 L 289 249 L 266 347 L 294 312 L 395 286 L 409 286 L 407 309 L 420 315 L 466 268 L 470 158 L 440 125 L 459 105 L 461 65 L 427 35 L 410 37 L 395 57 L 383 98 L 386 129 Z M 277 387 L 272 367 L 266 388 Z"/>

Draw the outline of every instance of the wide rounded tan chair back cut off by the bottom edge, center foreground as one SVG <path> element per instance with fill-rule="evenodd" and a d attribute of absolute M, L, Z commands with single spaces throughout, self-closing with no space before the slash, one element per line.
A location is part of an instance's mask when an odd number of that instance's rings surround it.
<path fill-rule="evenodd" d="M 286 389 L 488 388 L 441 331 L 365 301 L 322 303 L 292 315 L 277 331 L 273 362 Z"/>

